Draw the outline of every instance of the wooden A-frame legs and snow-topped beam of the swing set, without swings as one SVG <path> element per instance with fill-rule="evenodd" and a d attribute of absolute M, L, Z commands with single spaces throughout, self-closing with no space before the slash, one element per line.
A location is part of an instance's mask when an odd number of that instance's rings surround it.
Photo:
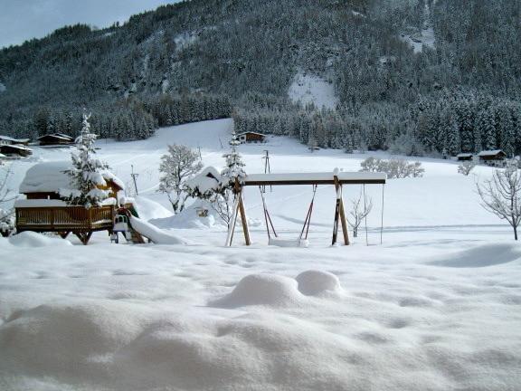
<path fill-rule="evenodd" d="M 254 174 L 246 176 L 242 182 L 235 178 L 233 193 L 235 202 L 232 209 L 232 218 L 230 220 L 228 235 L 226 237 L 226 246 L 232 246 L 233 234 L 237 225 L 237 217 L 241 215 L 242 233 L 244 234 L 244 242 L 251 245 L 250 228 L 246 218 L 244 207 L 244 199 L 242 196 L 243 189 L 246 186 L 302 186 L 302 185 L 334 185 L 336 190 L 336 206 L 333 223 L 333 234 L 331 244 L 336 245 L 338 242 L 338 225 L 342 226 L 342 234 L 344 244 L 349 245 L 349 234 L 347 232 L 346 209 L 344 207 L 344 199 L 342 196 L 344 185 L 385 185 L 386 175 L 383 173 L 298 173 L 298 174 Z M 266 215 L 265 215 L 265 218 Z M 270 224 L 271 219 L 269 219 Z M 268 224 L 268 220 L 267 223 Z"/>

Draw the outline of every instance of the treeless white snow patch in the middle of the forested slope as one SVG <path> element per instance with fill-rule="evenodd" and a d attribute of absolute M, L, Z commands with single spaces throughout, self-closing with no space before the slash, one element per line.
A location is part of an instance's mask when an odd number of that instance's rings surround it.
<path fill-rule="evenodd" d="M 323 78 L 298 72 L 289 86 L 289 99 L 297 103 L 298 101 L 306 106 L 313 103 L 317 109 L 326 107 L 335 109 L 338 99 L 335 94 L 335 86 Z"/>

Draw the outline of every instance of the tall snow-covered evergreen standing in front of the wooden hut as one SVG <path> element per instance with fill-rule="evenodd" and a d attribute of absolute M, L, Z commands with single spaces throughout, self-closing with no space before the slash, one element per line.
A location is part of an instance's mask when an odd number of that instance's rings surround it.
<path fill-rule="evenodd" d="M 71 189 L 61 189 L 61 195 L 69 205 L 81 205 L 86 208 L 98 206 L 109 196 L 109 192 L 99 189 L 106 186 L 102 170 L 109 168 L 106 163 L 93 157 L 96 154 L 94 141 L 97 136 L 90 133 L 90 114 L 83 114 L 81 136 L 77 151 L 72 152 L 72 168 L 66 173 L 71 177 Z"/>

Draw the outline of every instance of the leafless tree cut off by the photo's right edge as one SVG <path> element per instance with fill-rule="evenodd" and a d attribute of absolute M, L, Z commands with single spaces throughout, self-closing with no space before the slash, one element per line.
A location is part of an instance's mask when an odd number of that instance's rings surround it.
<path fill-rule="evenodd" d="M 500 219 L 507 220 L 517 240 L 517 227 L 521 222 L 521 171 L 515 162 L 508 162 L 506 168 L 497 169 L 491 179 L 476 186 L 481 205 Z"/>

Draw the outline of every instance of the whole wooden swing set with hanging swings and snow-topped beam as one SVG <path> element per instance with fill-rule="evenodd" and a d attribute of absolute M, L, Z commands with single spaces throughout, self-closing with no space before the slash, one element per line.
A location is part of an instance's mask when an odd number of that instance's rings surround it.
<path fill-rule="evenodd" d="M 241 215 L 242 233 L 246 245 L 251 244 L 250 229 L 246 218 L 244 201 L 242 197 L 243 188 L 245 186 L 258 186 L 261 191 L 262 209 L 266 224 L 266 232 L 268 234 L 268 243 L 279 247 L 308 247 L 309 224 L 311 224 L 311 216 L 313 214 L 313 206 L 315 204 L 315 196 L 317 195 L 318 185 L 334 185 L 336 188 L 336 207 L 335 218 L 333 224 L 333 236 L 331 244 L 335 245 L 338 238 L 338 225 L 342 226 L 342 234 L 344 244 L 349 245 L 349 235 L 347 233 L 346 211 L 344 208 L 344 200 L 342 197 L 342 189 L 344 185 L 382 185 L 382 227 L 380 229 L 380 238 L 382 240 L 383 222 L 384 222 L 384 185 L 387 176 L 384 173 L 366 173 L 366 172 L 343 172 L 337 169 L 333 173 L 294 173 L 294 174 L 252 174 L 246 176 L 242 183 L 238 179 L 235 180 L 234 193 L 235 203 L 232 209 L 231 224 L 226 237 L 226 245 L 231 246 L 233 234 L 237 224 L 237 217 Z M 292 186 L 292 185 L 310 185 L 313 187 L 311 202 L 308 206 L 308 214 L 304 219 L 304 224 L 300 234 L 295 239 L 284 239 L 279 237 L 275 230 L 273 221 L 264 193 L 262 191 L 265 186 Z"/>

